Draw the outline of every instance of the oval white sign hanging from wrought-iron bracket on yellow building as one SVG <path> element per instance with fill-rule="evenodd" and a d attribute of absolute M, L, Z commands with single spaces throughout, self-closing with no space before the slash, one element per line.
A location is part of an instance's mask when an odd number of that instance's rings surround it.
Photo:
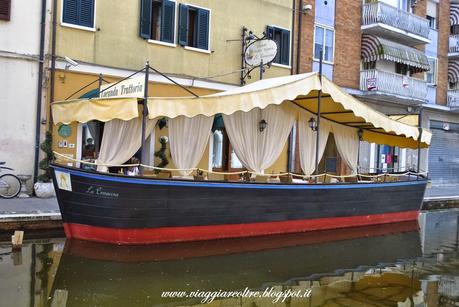
<path fill-rule="evenodd" d="M 277 44 L 272 39 L 260 39 L 245 49 L 244 61 L 249 66 L 271 63 L 277 55 Z"/>

